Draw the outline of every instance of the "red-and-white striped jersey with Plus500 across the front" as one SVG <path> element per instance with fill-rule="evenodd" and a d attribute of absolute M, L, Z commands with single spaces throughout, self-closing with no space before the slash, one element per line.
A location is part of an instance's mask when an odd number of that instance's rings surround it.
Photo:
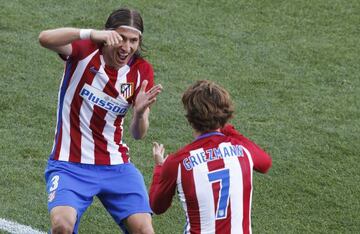
<path fill-rule="evenodd" d="M 152 66 L 132 58 L 115 70 L 90 40 L 73 42 L 65 62 L 50 159 L 97 165 L 129 162 L 123 120 L 142 81 L 148 80 L 147 89 L 153 86 Z"/>

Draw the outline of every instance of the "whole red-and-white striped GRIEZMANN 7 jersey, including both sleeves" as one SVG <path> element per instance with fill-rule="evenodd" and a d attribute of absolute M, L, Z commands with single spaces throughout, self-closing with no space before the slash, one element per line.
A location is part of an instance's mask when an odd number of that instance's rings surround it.
<path fill-rule="evenodd" d="M 253 169 L 271 158 L 231 125 L 200 136 L 154 168 L 150 205 L 165 212 L 177 191 L 186 214 L 184 233 L 251 233 Z"/>

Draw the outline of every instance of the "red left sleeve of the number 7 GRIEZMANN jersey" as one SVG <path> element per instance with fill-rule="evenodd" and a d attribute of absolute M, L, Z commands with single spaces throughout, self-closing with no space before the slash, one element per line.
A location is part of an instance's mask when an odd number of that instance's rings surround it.
<path fill-rule="evenodd" d="M 156 166 L 150 185 L 150 206 L 155 214 L 164 213 L 170 206 L 176 191 L 178 163 L 168 156 L 162 166 Z"/>

